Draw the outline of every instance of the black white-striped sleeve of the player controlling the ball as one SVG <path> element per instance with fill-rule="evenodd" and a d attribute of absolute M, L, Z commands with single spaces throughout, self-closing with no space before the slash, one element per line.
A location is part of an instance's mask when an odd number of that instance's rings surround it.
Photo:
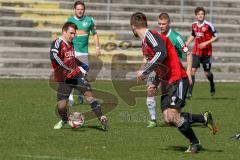
<path fill-rule="evenodd" d="M 61 46 L 61 39 L 56 39 L 55 41 L 52 42 L 51 49 L 50 49 L 50 59 L 54 61 L 54 63 L 61 66 L 62 68 L 68 71 L 71 71 L 71 69 L 68 68 L 59 57 L 60 46 Z"/>

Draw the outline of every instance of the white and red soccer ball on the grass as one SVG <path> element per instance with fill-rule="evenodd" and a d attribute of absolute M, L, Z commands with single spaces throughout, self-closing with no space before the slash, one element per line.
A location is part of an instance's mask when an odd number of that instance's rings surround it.
<path fill-rule="evenodd" d="M 84 115 L 80 112 L 73 112 L 68 116 L 68 124 L 72 128 L 79 128 L 84 124 Z"/>

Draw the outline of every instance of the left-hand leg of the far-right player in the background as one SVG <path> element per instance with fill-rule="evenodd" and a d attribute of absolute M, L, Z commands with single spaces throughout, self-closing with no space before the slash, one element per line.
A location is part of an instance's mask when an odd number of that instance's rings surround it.
<path fill-rule="evenodd" d="M 197 72 L 197 69 L 200 67 L 200 57 L 193 55 L 193 64 L 192 64 L 192 85 L 189 86 L 188 88 L 188 94 L 187 97 L 191 98 L 192 97 L 192 91 L 193 91 L 193 86 L 195 84 L 195 74 Z"/>

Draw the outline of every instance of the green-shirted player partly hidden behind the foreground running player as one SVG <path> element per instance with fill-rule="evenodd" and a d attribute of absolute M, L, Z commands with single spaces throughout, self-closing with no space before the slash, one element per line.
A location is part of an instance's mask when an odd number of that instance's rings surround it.
<path fill-rule="evenodd" d="M 158 29 L 160 34 L 165 35 L 169 38 L 169 40 L 172 42 L 173 46 L 175 47 L 177 51 L 178 58 L 183 61 L 184 58 L 187 55 L 187 75 L 189 79 L 189 83 L 192 83 L 191 78 L 191 69 L 192 69 L 192 54 L 188 47 L 185 45 L 185 40 L 182 38 L 182 36 L 173 30 L 170 27 L 170 17 L 167 13 L 161 13 L 158 17 Z M 148 83 L 151 84 L 149 81 L 151 81 L 151 75 L 148 78 Z M 156 122 L 156 100 L 155 100 L 155 93 L 153 92 L 153 88 L 151 86 L 148 86 L 148 96 L 147 96 L 147 106 L 150 113 L 151 120 L 148 123 L 148 128 L 153 128 L 157 126 Z"/>

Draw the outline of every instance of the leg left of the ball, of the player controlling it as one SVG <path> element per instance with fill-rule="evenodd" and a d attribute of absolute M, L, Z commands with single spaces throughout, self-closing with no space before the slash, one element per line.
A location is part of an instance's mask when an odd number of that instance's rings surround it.
<path fill-rule="evenodd" d="M 65 83 L 59 83 L 57 90 L 57 112 L 61 120 L 54 125 L 54 129 L 61 129 L 68 121 L 67 101 L 72 87 Z"/>

